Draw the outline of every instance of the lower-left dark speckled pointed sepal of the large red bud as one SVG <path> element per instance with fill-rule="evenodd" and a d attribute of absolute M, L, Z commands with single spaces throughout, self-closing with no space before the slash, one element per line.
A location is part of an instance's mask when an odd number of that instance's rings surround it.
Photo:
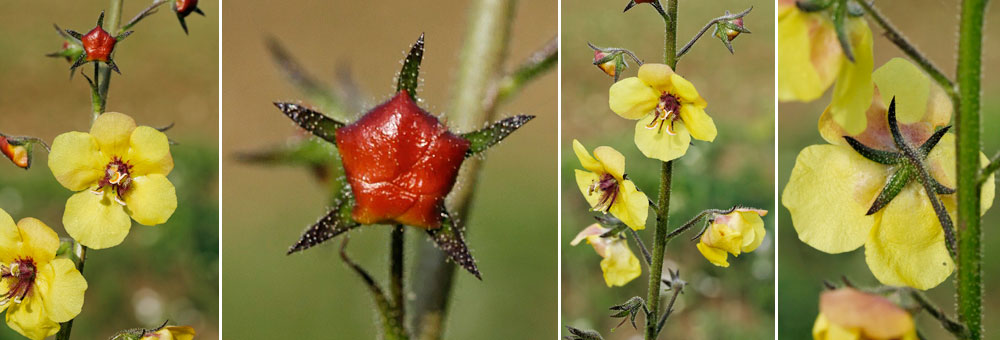
<path fill-rule="evenodd" d="M 288 249 L 286 255 L 312 248 L 348 230 L 361 226 L 351 219 L 351 209 L 353 206 L 354 196 L 351 195 L 350 188 L 345 186 L 341 189 L 339 198 L 334 202 L 330 212 L 306 229 L 302 233 L 302 237 L 299 238 L 299 241 L 295 242 Z"/>

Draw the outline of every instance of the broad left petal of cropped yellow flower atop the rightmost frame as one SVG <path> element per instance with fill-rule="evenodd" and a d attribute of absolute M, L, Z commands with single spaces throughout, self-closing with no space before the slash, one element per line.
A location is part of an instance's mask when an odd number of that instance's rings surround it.
<path fill-rule="evenodd" d="M 833 84 L 836 70 L 831 74 L 817 72 L 812 61 L 814 53 L 811 43 L 815 39 L 818 40 L 816 46 L 827 46 L 829 39 L 823 38 L 831 36 L 833 25 L 826 20 L 811 18 L 809 14 L 793 9 L 786 11 L 778 20 L 778 99 L 781 101 L 813 101 Z M 835 34 L 833 38 L 836 39 Z M 840 49 L 836 48 L 836 52 L 840 53 Z M 820 64 L 840 67 L 839 61 Z"/>

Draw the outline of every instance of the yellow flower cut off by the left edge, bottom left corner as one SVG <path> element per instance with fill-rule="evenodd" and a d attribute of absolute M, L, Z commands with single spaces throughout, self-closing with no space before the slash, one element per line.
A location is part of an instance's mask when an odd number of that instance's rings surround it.
<path fill-rule="evenodd" d="M 7 326 L 30 339 L 59 331 L 80 314 L 87 280 L 73 261 L 56 258 L 59 236 L 34 218 L 14 219 L 0 209 L 0 312 Z"/>

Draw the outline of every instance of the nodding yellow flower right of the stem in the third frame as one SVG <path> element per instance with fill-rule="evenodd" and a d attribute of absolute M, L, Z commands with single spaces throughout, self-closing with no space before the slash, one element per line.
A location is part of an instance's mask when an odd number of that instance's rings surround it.
<path fill-rule="evenodd" d="M 736 209 L 716 217 L 712 225 L 701 235 L 698 251 L 709 262 L 719 267 L 729 267 L 726 253 L 740 256 L 757 249 L 764 241 L 764 220 L 767 210 Z"/>

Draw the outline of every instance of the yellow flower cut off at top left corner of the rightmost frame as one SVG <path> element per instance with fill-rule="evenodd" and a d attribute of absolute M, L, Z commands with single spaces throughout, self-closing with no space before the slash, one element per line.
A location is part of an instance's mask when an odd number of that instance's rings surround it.
<path fill-rule="evenodd" d="M 851 134 L 865 129 L 871 101 L 872 32 L 863 18 L 845 22 L 854 62 L 847 59 L 825 12 L 807 13 L 794 0 L 778 4 L 778 99 L 813 101 L 836 79 L 830 111 Z"/>

